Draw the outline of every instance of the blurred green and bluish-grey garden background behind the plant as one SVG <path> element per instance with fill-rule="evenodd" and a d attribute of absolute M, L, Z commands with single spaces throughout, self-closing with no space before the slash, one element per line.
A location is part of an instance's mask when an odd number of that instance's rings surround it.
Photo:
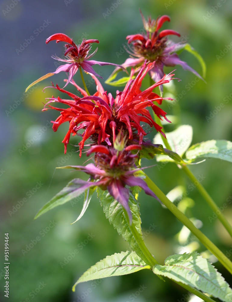
<path fill-rule="evenodd" d="M 84 174 L 55 170 L 61 165 L 82 165 L 85 155 L 80 159 L 78 137 L 72 137 L 64 156 L 61 143 L 67 132 L 63 124 L 56 133 L 52 131 L 51 120 L 58 112 L 41 112 L 46 97 L 57 95 L 49 86 L 49 80 L 31 88 L 25 88 L 40 76 L 56 69 L 51 55 L 62 56 L 63 43 L 45 44 L 50 35 L 62 32 L 78 43 L 83 37 L 100 41 L 94 59 L 99 61 L 123 63 L 128 57 L 123 50 L 125 37 L 143 28 L 139 13 L 141 8 L 145 17 L 151 15 L 171 16 L 170 28 L 181 33 L 206 62 L 206 82 L 195 82 L 195 76 L 177 66 L 175 82 L 176 94 L 183 97 L 172 108 L 163 104 L 169 114 L 177 114 L 181 124 L 193 126 L 193 143 L 211 139 L 232 140 L 232 2 L 215 1 L 138 1 L 121 0 L 111 14 L 112 3 L 116 1 L 29 1 L 3 0 L 0 4 L 1 48 L 0 48 L 0 143 L 1 143 L 1 301 L 46 301 L 46 302 L 174 302 L 193 301 L 193 297 L 177 284 L 166 280 L 162 282 L 151 272 L 140 271 L 123 277 L 98 280 L 95 284 L 79 284 L 76 292 L 72 285 L 86 269 L 106 255 L 126 251 L 127 243 L 118 235 L 105 218 L 96 195 L 91 200 L 84 217 L 76 220 L 82 208 L 83 199 L 67 203 L 33 220 L 37 211 L 74 177 L 87 179 Z M 219 4 L 219 5 L 218 5 Z M 116 5 L 115 5 L 116 6 Z M 33 37 L 31 37 L 33 36 Z M 178 37 L 173 40 L 179 41 Z M 29 43 L 30 42 L 30 43 Z M 22 44 L 22 47 L 20 47 Z M 93 45 L 93 50 L 95 45 Z M 119 55 L 120 53 L 120 55 Z M 221 55 L 223 53 L 223 56 Z M 218 57 L 220 56 L 220 57 Z M 188 53 L 180 57 L 200 74 L 197 60 Z M 113 71 L 112 66 L 94 66 L 96 72 L 107 79 Z M 171 72 L 170 68 L 165 69 Z M 62 87 L 64 73 L 52 77 L 54 83 Z M 88 81 L 90 79 L 86 77 Z M 79 75 L 75 76 L 80 83 Z M 144 87 L 149 80 L 145 79 Z M 105 90 L 115 94 L 116 89 L 104 84 Z M 71 86 L 71 85 L 70 85 Z M 74 92 L 73 87 L 69 87 Z M 94 93 L 94 85 L 90 92 Z M 227 98 L 228 96 L 228 98 Z M 228 99 L 229 101 L 225 101 Z M 220 111 L 208 120 L 211 111 L 223 103 Z M 173 123 L 166 129 L 174 130 Z M 149 134 L 152 140 L 155 132 Z M 33 137 L 36 136 L 36 139 Z M 155 159 L 144 160 L 142 164 L 155 164 Z M 191 166 L 193 173 L 203 175 L 204 187 L 221 206 L 232 195 L 232 169 L 229 162 L 207 159 L 206 162 Z M 191 182 L 173 163 L 147 170 L 156 184 L 167 194 L 177 185 L 185 186 Z M 183 202 L 188 217 L 198 219 L 198 225 L 219 248 L 228 253 L 230 259 L 232 241 L 217 219 L 210 219 L 212 210 L 205 204 L 196 189 L 190 191 L 188 200 Z M 143 193 L 139 196 L 141 204 L 142 229 L 149 249 L 161 263 L 168 255 L 192 251 L 196 248 L 203 255 L 215 261 L 204 246 L 194 236 L 187 237 L 182 225 L 167 209 Z M 232 207 L 224 209 L 224 214 L 232 223 Z M 182 237 L 178 236 L 182 230 Z M 10 297 L 4 297 L 4 233 L 10 237 Z M 179 234 L 180 235 L 180 234 Z M 66 259 L 66 260 L 65 260 Z M 232 285 L 227 271 L 215 262 L 226 280 Z M 90 293 L 88 293 L 88 291 Z M 86 294 L 87 293 L 87 294 Z M 182 299 L 182 300 L 181 300 Z M 200 301 L 200 300 L 194 300 Z"/>

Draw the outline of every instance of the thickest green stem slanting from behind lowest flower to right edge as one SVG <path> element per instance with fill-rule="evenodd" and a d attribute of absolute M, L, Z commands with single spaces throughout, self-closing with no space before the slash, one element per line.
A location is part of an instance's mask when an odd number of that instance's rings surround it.
<path fill-rule="evenodd" d="M 146 174 L 145 174 L 146 175 Z M 218 261 L 232 274 L 232 262 L 167 198 L 167 196 L 146 175 L 145 181 L 160 201 L 214 254 Z"/>

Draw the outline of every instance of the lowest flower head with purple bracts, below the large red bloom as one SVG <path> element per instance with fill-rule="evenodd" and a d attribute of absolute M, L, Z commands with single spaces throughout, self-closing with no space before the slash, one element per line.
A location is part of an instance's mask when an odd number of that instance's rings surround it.
<path fill-rule="evenodd" d="M 117 139 L 120 137 L 120 133 Z M 117 141 L 116 139 L 116 141 Z M 128 205 L 130 190 L 128 187 L 139 186 L 146 194 L 157 198 L 157 196 L 149 189 L 146 182 L 139 175 L 140 168 L 136 168 L 136 154 L 132 154 L 131 150 L 141 149 L 140 145 L 130 145 L 125 147 L 125 140 L 114 144 L 114 147 L 122 146 L 122 148 L 112 148 L 103 145 L 92 146 L 87 155 L 95 153 L 95 165 L 93 163 L 86 166 L 67 166 L 62 168 L 74 168 L 83 171 L 94 179 L 94 182 L 85 182 L 76 179 L 75 183 L 81 185 L 81 188 L 88 189 L 90 187 L 100 187 L 102 190 L 108 190 L 111 196 L 117 200 L 127 211 L 132 222 L 132 214 Z M 141 173 L 140 173 L 141 174 Z M 79 183 L 78 183 L 79 182 Z M 127 186 L 127 187 L 126 187 Z M 79 188 L 79 189 L 81 189 Z"/>

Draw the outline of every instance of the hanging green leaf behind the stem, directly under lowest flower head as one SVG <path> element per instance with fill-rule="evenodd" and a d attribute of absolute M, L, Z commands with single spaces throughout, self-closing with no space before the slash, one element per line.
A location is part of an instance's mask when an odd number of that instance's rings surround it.
<path fill-rule="evenodd" d="M 123 236 L 123 239 L 127 241 L 131 249 L 133 249 L 136 254 L 143 259 L 143 261 L 147 261 L 130 230 L 124 216 L 122 205 L 116 201 L 108 191 L 102 191 L 100 188 L 97 188 L 97 194 L 103 206 L 106 218 L 108 218 L 109 222 L 113 224 L 114 228 L 118 231 L 118 234 Z M 132 213 L 134 226 L 140 235 L 140 240 L 144 243 L 141 230 L 139 203 L 131 193 L 128 204 Z"/>

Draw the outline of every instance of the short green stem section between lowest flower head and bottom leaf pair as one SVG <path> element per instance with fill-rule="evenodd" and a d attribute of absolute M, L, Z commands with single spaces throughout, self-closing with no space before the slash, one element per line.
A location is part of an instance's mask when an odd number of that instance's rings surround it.
<path fill-rule="evenodd" d="M 123 208 L 123 212 L 124 215 L 126 217 L 128 226 L 130 227 L 131 233 L 133 234 L 138 246 L 140 247 L 141 251 L 143 252 L 144 256 L 146 257 L 146 259 L 148 260 L 146 263 L 148 265 L 150 265 L 151 267 L 153 267 L 156 264 L 159 264 L 158 261 L 155 260 L 155 258 L 152 256 L 152 254 L 149 252 L 148 248 L 146 247 L 145 243 L 143 240 L 141 240 L 141 236 L 138 233 L 138 231 L 136 230 L 136 227 L 134 226 L 134 223 L 132 221 L 132 223 L 130 224 L 130 219 L 129 216 L 127 214 L 127 211 L 124 210 Z"/>

